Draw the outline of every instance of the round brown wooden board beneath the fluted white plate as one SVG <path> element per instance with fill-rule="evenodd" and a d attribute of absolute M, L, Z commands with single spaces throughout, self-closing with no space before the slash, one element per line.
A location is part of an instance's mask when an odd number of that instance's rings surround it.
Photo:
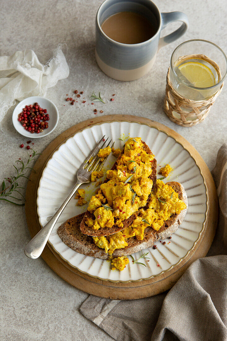
<path fill-rule="evenodd" d="M 151 121 L 147 118 L 130 115 L 108 115 L 78 123 L 55 138 L 36 161 L 34 165 L 34 171 L 31 172 L 27 185 L 25 211 L 28 228 L 31 237 L 33 238 L 41 229 L 37 216 L 36 198 L 40 177 L 47 161 L 51 158 L 55 150 L 58 149 L 67 138 L 74 135 L 76 132 L 93 124 L 113 120 L 139 122 L 161 129 L 180 142 L 194 157 L 202 171 L 208 189 L 209 209 L 207 213 L 207 221 L 199 241 L 196 243 L 194 249 L 187 255 L 187 257 L 185 257 L 180 264 L 173 267 L 171 270 L 148 280 L 131 283 L 113 283 L 90 277 L 89 275 L 80 272 L 66 263 L 52 249 L 49 243 L 47 243 L 42 253 L 42 258 L 49 265 L 49 267 L 66 282 L 89 294 L 111 299 L 138 299 L 156 295 L 170 289 L 192 262 L 200 257 L 206 256 L 214 238 L 218 220 L 218 200 L 214 181 L 206 163 L 203 161 L 199 153 L 181 135 L 161 123 Z M 31 260 L 31 262 L 33 262 L 33 260 Z"/>

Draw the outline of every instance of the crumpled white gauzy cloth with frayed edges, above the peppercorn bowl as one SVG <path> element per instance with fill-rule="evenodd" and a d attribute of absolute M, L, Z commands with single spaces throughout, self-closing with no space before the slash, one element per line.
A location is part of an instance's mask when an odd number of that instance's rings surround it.
<path fill-rule="evenodd" d="M 7 110 L 29 96 L 45 96 L 48 88 L 69 76 L 69 66 L 58 45 L 53 57 L 43 65 L 33 50 L 16 51 L 0 57 L 0 123 Z"/>

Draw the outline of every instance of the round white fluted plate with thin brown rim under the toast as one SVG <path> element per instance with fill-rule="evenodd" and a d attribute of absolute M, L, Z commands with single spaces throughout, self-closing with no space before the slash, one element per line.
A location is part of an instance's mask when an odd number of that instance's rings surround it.
<path fill-rule="evenodd" d="M 93 125 L 67 139 L 48 161 L 40 180 L 37 193 L 37 213 L 40 224 L 44 226 L 62 204 L 74 186 L 77 169 L 104 134 L 115 140 L 115 148 L 122 148 L 128 136 L 140 136 L 155 155 L 157 172 L 167 163 L 173 167 L 173 171 L 164 181 L 178 181 L 186 190 L 189 208 L 183 223 L 171 239 L 165 240 L 165 245 L 158 241 L 156 250 L 148 248 L 144 251 L 148 252 L 150 257 L 150 259 L 142 260 L 146 267 L 133 264 L 129 256 L 130 263 L 123 271 L 112 271 L 110 261 L 77 253 L 65 245 L 58 236 L 58 227 L 65 220 L 87 209 L 87 205 L 76 206 L 76 200 L 72 198 L 56 223 L 49 237 L 49 243 L 70 265 L 102 280 L 140 281 L 160 275 L 179 264 L 195 247 L 204 229 L 208 198 L 205 181 L 196 161 L 173 137 L 155 127 L 136 122 L 114 121 Z M 105 170 L 109 169 L 115 160 L 116 158 L 109 155 Z M 89 202 L 96 189 L 94 183 L 82 187 L 86 190 L 86 199 Z M 133 254 L 133 257 L 138 259 L 140 255 L 141 252 L 137 252 Z"/>

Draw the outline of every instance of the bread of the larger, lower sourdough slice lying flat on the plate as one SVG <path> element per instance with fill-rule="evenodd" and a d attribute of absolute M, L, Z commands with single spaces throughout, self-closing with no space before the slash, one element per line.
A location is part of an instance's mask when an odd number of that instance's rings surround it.
<path fill-rule="evenodd" d="M 148 226 L 144 231 L 143 240 L 138 240 L 136 237 L 128 238 L 128 246 L 124 249 L 116 249 L 112 254 L 113 258 L 127 256 L 134 252 L 152 247 L 159 239 L 170 237 L 178 229 L 178 226 L 184 220 L 188 209 L 187 194 L 182 184 L 179 182 L 172 181 L 168 182 L 168 184 L 179 194 L 179 198 L 186 204 L 186 208 L 179 214 L 173 214 L 158 231 L 155 231 L 152 227 Z M 58 229 L 59 237 L 66 245 L 79 253 L 95 258 L 108 259 L 108 253 L 106 253 L 104 249 L 97 247 L 93 242 L 92 237 L 81 233 L 79 226 L 84 214 L 85 213 L 81 213 L 61 224 Z"/>

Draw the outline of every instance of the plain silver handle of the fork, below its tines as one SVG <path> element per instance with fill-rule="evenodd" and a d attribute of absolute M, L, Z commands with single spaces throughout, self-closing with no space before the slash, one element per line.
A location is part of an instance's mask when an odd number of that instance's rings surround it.
<path fill-rule="evenodd" d="M 72 196 L 75 194 L 76 190 L 80 187 L 80 185 L 83 182 L 80 182 L 77 180 L 77 183 L 75 184 L 74 188 L 70 192 L 70 194 L 67 196 L 63 204 L 59 207 L 57 212 L 54 214 L 54 216 L 48 221 L 48 223 L 41 229 L 40 232 L 38 232 L 34 238 L 26 245 L 25 247 L 25 254 L 29 258 L 36 259 L 38 258 L 41 253 L 43 252 L 43 249 L 47 243 L 47 240 L 52 232 L 52 229 L 54 228 L 58 218 L 60 217 L 61 213 L 63 212 L 65 206 L 70 201 Z"/>

